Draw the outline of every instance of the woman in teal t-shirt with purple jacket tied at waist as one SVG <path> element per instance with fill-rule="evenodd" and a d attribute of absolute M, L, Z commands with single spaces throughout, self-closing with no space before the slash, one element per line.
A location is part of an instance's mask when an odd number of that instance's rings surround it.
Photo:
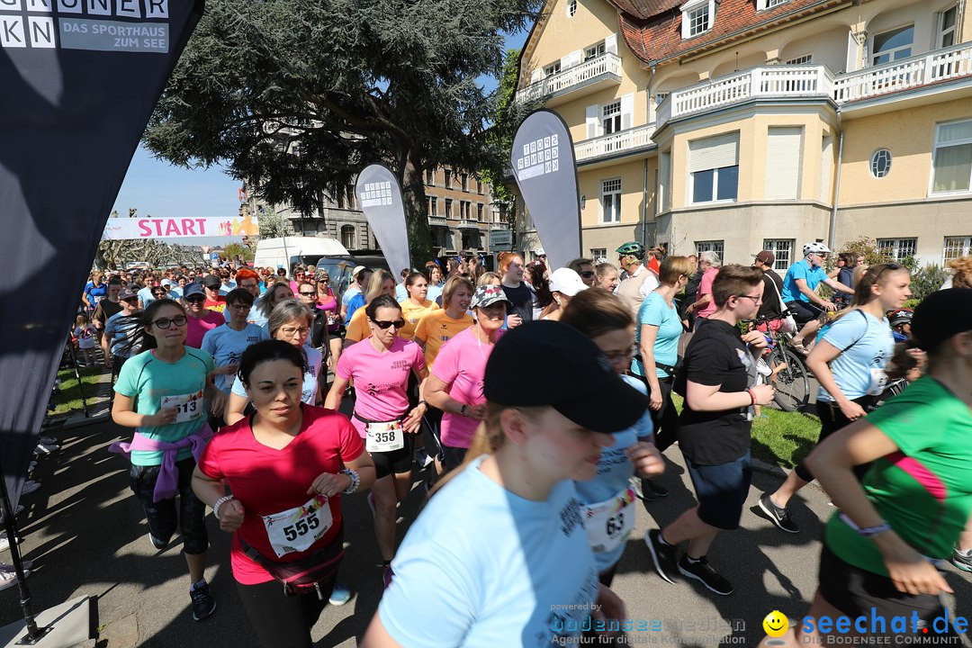
<path fill-rule="evenodd" d="M 209 549 L 206 507 L 192 493 L 192 471 L 212 436 L 205 405 L 211 403 L 219 412 L 223 394 L 210 380 L 216 368 L 213 357 L 186 346 L 186 311 L 181 305 L 158 299 L 142 313 L 142 324 L 144 347 L 149 350 L 121 367 L 112 419 L 137 429 L 131 443 L 118 449 L 131 459 L 128 482 L 145 508 L 152 545 L 162 550 L 176 529 L 182 530 L 192 619 L 201 621 L 213 613 L 216 601 L 203 576 Z"/>

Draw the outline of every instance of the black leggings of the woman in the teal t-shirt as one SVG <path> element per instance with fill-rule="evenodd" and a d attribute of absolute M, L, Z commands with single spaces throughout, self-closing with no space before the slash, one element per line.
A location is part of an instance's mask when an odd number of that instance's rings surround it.
<path fill-rule="evenodd" d="M 134 465 L 128 471 L 128 486 L 142 502 L 149 531 L 156 539 L 168 544 L 176 529 L 183 534 L 183 549 L 187 554 L 203 554 L 209 549 L 206 533 L 206 505 L 192 493 L 192 470 L 195 460 L 191 457 L 176 461 L 179 470 L 179 512 L 176 514 L 175 497 L 154 501 L 157 465 Z"/>

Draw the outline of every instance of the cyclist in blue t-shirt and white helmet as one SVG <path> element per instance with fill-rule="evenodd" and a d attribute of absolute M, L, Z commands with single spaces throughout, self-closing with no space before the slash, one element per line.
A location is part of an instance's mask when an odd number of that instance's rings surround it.
<path fill-rule="evenodd" d="M 820 328 L 820 315 L 824 311 L 835 310 L 834 302 L 816 294 L 816 287 L 824 284 L 833 290 L 853 292 L 850 286 L 827 277 L 823 262 L 829 254 L 830 249 L 822 243 L 808 243 L 803 246 L 803 258 L 791 265 L 783 278 L 783 304 L 793 314 L 797 324 L 804 324 L 793 337 L 793 347 L 802 354 L 810 353 L 804 340 L 814 339 Z"/>

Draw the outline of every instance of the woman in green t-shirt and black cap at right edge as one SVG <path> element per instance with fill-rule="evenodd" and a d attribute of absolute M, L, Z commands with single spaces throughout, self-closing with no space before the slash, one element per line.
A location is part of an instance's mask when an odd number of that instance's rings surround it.
<path fill-rule="evenodd" d="M 952 557 L 972 511 L 972 290 L 930 295 L 915 311 L 912 333 L 928 354 L 928 373 L 807 460 L 839 509 L 824 531 L 808 618 L 864 616 L 869 633 L 908 634 L 906 643 L 954 628 L 940 599 L 952 589 L 936 567 Z M 858 482 L 853 467 L 870 461 Z M 872 617 L 885 623 L 874 629 Z M 907 619 L 897 632 L 895 617 Z M 818 636 L 804 623 L 788 645 L 819 643 Z"/>

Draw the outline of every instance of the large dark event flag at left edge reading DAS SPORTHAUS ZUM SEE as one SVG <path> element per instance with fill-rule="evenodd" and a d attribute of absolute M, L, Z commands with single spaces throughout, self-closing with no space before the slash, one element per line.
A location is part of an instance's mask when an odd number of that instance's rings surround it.
<path fill-rule="evenodd" d="M 15 506 L 108 212 L 202 9 L 0 0 L 0 467 Z"/>

